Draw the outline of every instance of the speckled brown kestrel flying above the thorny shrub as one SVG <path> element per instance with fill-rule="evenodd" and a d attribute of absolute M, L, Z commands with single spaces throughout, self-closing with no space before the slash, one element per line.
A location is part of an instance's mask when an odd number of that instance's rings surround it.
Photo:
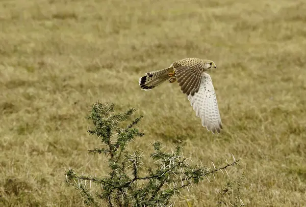
<path fill-rule="evenodd" d="M 188 96 L 196 116 L 200 117 L 202 126 L 213 134 L 222 129 L 221 117 L 218 109 L 215 89 L 209 74 L 209 69 L 216 68 L 210 60 L 199 58 L 185 58 L 173 62 L 168 68 L 147 72 L 139 78 L 142 90 L 151 90 L 168 80 L 170 83 L 177 81 L 181 91 Z"/>

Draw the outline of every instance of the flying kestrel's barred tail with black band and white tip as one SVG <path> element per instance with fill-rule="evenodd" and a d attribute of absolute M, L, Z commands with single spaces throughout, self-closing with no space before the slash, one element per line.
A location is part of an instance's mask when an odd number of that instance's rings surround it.
<path fill-rule="evenodd" d="M 168 76 L 169 71 L 171 71 L 171 68 L 147 72 L 145 76 L 139 78 L 140 88 L 145 91 L 155 88 L 170 78 Z"/>

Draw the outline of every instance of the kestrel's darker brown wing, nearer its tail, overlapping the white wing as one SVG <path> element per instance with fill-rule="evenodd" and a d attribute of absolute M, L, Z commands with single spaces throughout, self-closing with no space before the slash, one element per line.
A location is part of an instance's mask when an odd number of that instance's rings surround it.
<path fill-rule="evenodd" d="M 181 86 L 183 94 L 193 96 L 198 92 L 202 77 L 201 65 L 174 67 L 175 78 Z"/>

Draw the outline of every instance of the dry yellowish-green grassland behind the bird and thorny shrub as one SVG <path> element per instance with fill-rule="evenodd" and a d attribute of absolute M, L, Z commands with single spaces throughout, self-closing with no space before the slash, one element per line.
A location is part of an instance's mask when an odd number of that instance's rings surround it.
<path fill-rule="evenodd" d="M 233 153 L 248 206 L 306 206 L 305 11 L 302 0 L 2 0 L 0 205 L 83 206 L 64 170 L 106 173 L 105 158 L 87 153 L 99 141 L 85 116 L 99 100 L 144 115 L 134 149 L 182 139 L 184 155 L 208 165 Z M 145 72 L 185 57 L 217 65 L 219 135 L 201 127 L 177 84 L 139 89 Z M 183 194 L 216 206 L 225 181 Z"/>

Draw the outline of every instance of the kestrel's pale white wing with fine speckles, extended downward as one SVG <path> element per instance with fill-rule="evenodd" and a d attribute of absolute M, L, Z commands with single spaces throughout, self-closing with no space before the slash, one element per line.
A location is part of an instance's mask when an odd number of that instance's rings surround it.
<path fill-rule="evenodd" d="M 196 116 L 200 117 L 202 126 L 208 131 L 220 133 L 222 129 L 221 117 L 218 109 L 215 89 L 209 74 L 202 73 L 199 90 L 193 96 L 188 96 Z"/>

